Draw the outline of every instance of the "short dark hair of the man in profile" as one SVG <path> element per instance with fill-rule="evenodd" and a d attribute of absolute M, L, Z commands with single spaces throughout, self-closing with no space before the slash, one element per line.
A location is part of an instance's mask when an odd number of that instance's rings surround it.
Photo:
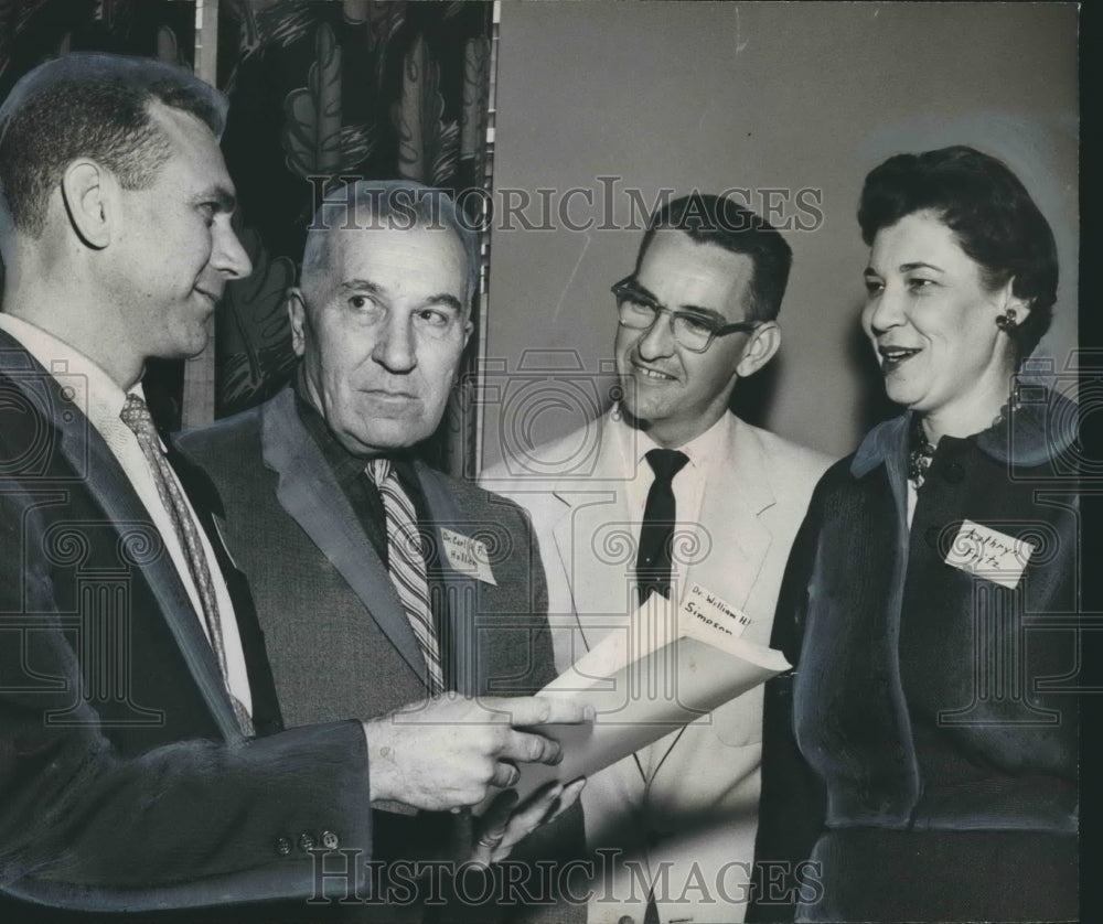
<path fill-rule="evenodd" d="M 24 75 L 0 107 L 0 203 L 14 226 L 42 234 L 50 194 L 78 158 L 101 163 L 126 190 L 148 187 L 172 154 L 153 101 L 222 135 L 225 97 L 160 61 L 78 52 Z"/>

